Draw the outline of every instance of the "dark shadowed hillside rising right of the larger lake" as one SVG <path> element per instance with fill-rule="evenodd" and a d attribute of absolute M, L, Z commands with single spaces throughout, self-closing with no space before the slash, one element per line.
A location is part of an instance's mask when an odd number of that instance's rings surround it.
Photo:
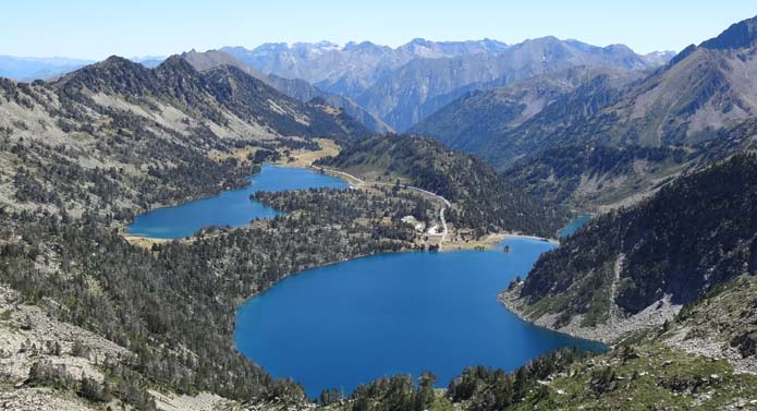
<path fill-rule="evenodd" d="M 683 177 L 544 255 L 517 293 L 518 310 L 530 319 L 554 315 L 555 328 L 593 327 L 660 301 L 696 301 L 757 271 L 756 204 L 754 154 Z"/>

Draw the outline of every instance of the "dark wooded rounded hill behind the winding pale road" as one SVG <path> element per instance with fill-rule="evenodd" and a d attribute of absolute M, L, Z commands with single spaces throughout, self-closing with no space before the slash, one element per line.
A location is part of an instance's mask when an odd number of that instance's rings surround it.
<path fill-rule="evenodd" d="M 549 237 L 565 221 L 561 210 L 535 201 L 484 161 L 427 137 L 371 137 L 318 164 L 371 180 L 400 179 L 442 195 L 456 205 L 450 221 L 478 234 L 512 230 Z"/>

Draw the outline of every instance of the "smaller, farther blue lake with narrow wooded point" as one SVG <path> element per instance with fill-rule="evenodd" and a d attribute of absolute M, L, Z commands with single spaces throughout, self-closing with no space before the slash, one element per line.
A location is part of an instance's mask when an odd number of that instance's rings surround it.
<path fill-rule="evenodd" d="M 251 185 L 244 189 L 224 191 L 213 197 L 158 208 L 137 216 L 126 227 L 126 232 L 157 239 L 176 239 L 212 226 L 241 227 L 254 218 L 272 218 L 277 215 L 273 208 L 249 200 L 249 195 L 255 192 L 349 186 L 334 177 L 303 168 L 272 165 L 264 165 L 260 172 L 251 177 L 249 181 Z"/>

